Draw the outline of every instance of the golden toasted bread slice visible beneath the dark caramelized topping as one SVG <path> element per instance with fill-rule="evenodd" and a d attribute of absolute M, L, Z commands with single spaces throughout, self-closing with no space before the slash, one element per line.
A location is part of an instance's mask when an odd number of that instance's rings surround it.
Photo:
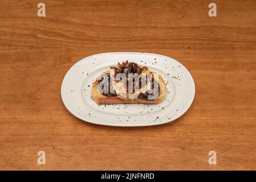
<path fill-rule="evenodd" d="M 106 71 L 104 73 L 108 73 L 109 71 Z M 103 94 L 99 93 L 97 90 L 97 84 L 98 81 L 96 81 L 92 84 L 92 99 L 97 103 L 97 105 L 102 104 L 159 104 L 162 102 L 166 96 L 166 86 L 165 82 L 162 79 L 161 76 L 159 76 L 159 86 L 160 86 L 160 94 L 159 97 L 157 97 L 155 100 L 142 100 L 140 98 L 137 98 L 136 100 L 123 100 L 119 97 L 108 97 L 104 96 Z"/>

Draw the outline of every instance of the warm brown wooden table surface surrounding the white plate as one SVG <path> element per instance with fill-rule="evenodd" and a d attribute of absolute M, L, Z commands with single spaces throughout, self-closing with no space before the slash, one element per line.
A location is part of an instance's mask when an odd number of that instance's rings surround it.
<path fill-rule="evenodd" d="M 256 169 L 256 3 L 0 1 L 0 169 Z M 83 57 L 152 52 L 185 65 L 196 97 L 179 119 L 109 127 L 68 112 L 60 85 Z M 46 152 L 38 165 L 37 152 Z M 208 163 L 217 152 L 217 165 Z"/>

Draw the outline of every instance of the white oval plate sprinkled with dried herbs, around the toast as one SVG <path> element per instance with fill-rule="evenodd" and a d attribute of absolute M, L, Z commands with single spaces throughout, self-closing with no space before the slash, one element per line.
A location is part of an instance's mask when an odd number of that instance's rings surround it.
<path fill-rule="evenodd" d="M 115 104 L 98 106 L 91 98 L 92 82 L 117 62 L 132 61 L 159 73 L 168 94 L 157 105 Z M 64 105 L 79 119 L 108 126 L 151 126 L 177 119 L 193 102 L 195 85 L 189 71 L 178 61 L 163 55 L 139 52 L 111 52 L 88 56 L 68 70 L 62 82 Z"/>

